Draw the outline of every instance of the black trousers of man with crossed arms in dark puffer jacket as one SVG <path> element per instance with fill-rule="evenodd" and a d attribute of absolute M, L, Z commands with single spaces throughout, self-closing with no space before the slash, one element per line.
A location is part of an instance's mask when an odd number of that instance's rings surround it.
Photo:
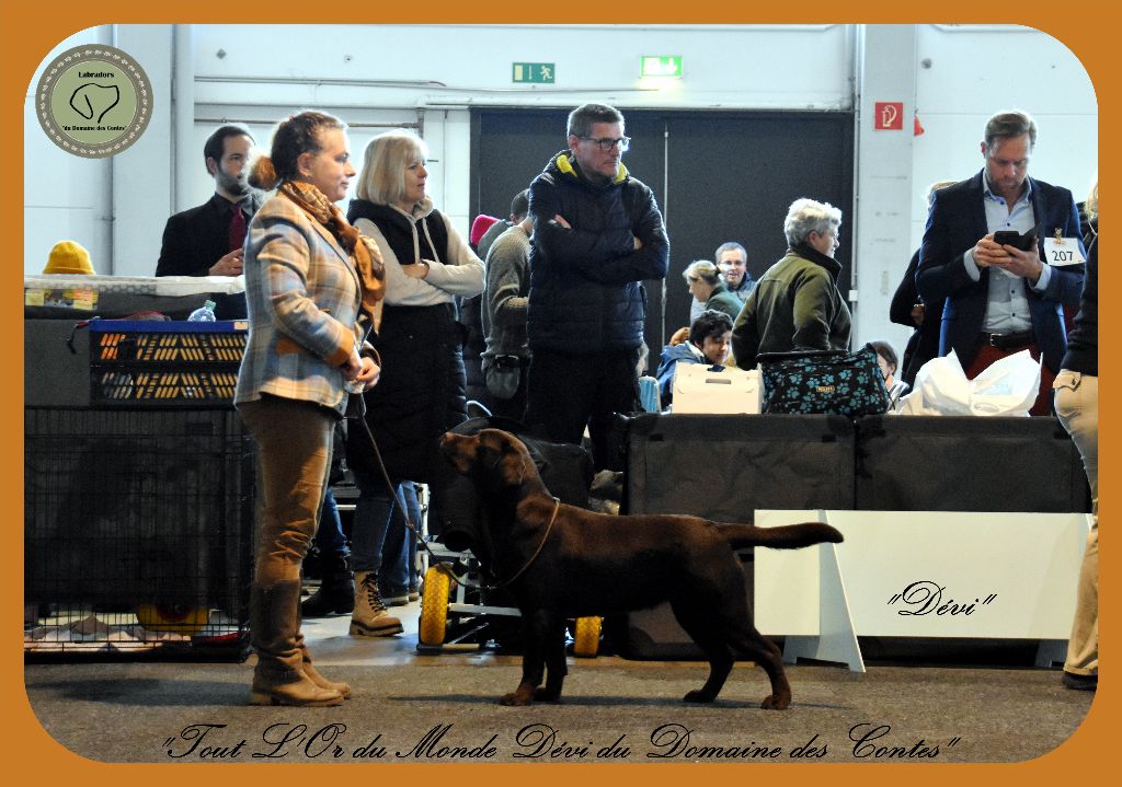
<path fill-rule="evenodd" d="M 638 409 L 638 350 L 564 353 L 535 349 L 526 424 L 555 443 L 580 445 L 588 426 L 597 470 L 622 470 L 610 444 L 616 413 Z"/>

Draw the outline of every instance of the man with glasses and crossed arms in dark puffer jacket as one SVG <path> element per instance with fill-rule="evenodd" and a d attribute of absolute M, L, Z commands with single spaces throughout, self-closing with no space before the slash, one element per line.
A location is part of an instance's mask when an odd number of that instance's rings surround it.
<path fill-rule="evenodd" d="M 613 413 L 637 409 L 644 279 L 666 276 L 670 243 L 651 189 L 620 163 L 624 117 L 605 104 L 569 114 L 569 149 L 530 185 L 530 364 L 526 422 L 611 464 Z"/>

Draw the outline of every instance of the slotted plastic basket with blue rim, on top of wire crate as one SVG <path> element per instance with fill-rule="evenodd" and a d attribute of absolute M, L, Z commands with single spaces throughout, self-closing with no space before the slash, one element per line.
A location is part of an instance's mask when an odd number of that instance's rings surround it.
<path fill-rule="evenodd" d="M 229 407 L 246 350 L 245 322 L 90 323 L 95 407 Z"/>

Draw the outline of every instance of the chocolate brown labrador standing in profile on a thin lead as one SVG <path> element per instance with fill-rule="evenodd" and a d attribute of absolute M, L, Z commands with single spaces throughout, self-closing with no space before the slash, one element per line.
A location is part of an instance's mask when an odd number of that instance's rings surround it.
<path fill-rule="evenodd" d="M 442 448 L 486 501 L 489 525 L 477 556 L 522 612 L 522 682 L 503 696 L 504 705 L 561 696 L 567 618 L 629 612 L 663 601 L 709 660 L 709 678 L 686 702 L 712 702 L 739 654 L 771 678 L 762 707 L 791 704 L 779 648 L 752 624 L 734 550 L 837 544 L 842 534 L 836 529 L 818 522 L 757 528 L 699 517 L 595 513 L 551 497 L 525 446 L 507 432 L 448 433 Z"/>

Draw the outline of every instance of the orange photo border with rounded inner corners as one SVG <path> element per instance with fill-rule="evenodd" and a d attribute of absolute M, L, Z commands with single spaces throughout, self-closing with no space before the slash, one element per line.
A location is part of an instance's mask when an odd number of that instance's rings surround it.
<path fill-rule="evenodd" d="M 191 9 L 184 4 L 162 4 L 151 0 L 107 0 L 104 2 L 75 2 L 75 0 L 56 0 L 48 6 L 20 2 L 8 3 L 3 10 L 3 46 L 0 49 L 3 58 L 2 112 L 0 117 L 7 120 L 0 124 L 0 136 L 3 149 L 12 151 L 13 160 L 21 161 L 18 166 L 17 182 L 2 191 L 3 210 L 0 211 L 3 234 L 8 239 L 19 239 L 10 248 L 7 261 L 0 263 L 0 276 L 3 278 L 3 303 L 7 308 L 0 308 L 2 328 L 8 333 L 9 354 L 7 362 L 10 369 L 10 383 L 0 405 L 0 424 L 6 434 L 12 437 L 10 447 L 0 454 L 4 472 L 0 473 L 3 484 L 3 499 L 22 501 L 22 442 L 16 439 L 22 434 L 22 395 L 20 372 L 22 358 L 22 327 L 19 317 L 21 305 L 21 271 L 22 271 L 22 203 L 24 179 L 34 172 L 35 161 L 24 158 L 24 102 L 27 94 L 34 90 L 31 78 L 36 68 L 49 50 L 74 33 L 104 24 L 561 24 L 561 22 L 618 22 L 618 24 L 822 24 L 822 22 L 867 22 L 867 24 L 1012 24 L 1036 27 L 1065 44 L 1083 63 L 1094 83 L 1098 99 L 1100 128 L 1114 128 L 1113 121 L 1119 118 L 1120 81 L 1112 81 L 1113 74 L 1109 59 L 1118 47 L 1116 31 L 1120 26 L 1114 24 L 1122 18 L 1122 10 L 1115 7 L 1111 10 L 1097 8 L 1098 3 L 1077 3 L 1064 7 L 1055 0 L 1020 0 L 1006 3 L 1004 7 L 993 3 L 966 2 L 965 0 L 942 0 L 930 7 L 917 7 L 894 0 L 855 0 L 850 3 L 754 3 L 741 0 L 710 0 L 703 4 L 683 9 L 681 0 L 649 0 L 643 3 L 624 4 L 581 2 L 563 4 L 557 8 L 546 3 L 517 3 L 495 6 L 467 6 L 452 0 L 429 0 L 424 3 L 397 3 L 385 8 L 381 3 L 339 3 L 327 7 L 322 3 L 300 3 L 294 0 L 270 0 L 267 3 L 241 3 L 234 7 L 230 2 L 217 0 L 195 0 Z M 993 67 L 994 64 L 980 62 L 980 67 Z M 1000 64 L 1001 67 L 1015 67 L 1015 64 Z M 1000 103 L 1000 100 L 999 100 Z M 28 127 L 30 128 L 30 127 Z M 34 128 L 30 132 L 39 132 Z M 1102 135 L 1100 135 L 1102 137 Z M 1109 142 L 1101 147 L 1100 169 L 1107 180 L 1105 188 L 1106 203 L 1110 203 L 1110 174 L 1119 173 L 1119 157 Z M 1080 191 L 1085 184 L 1066 184 L 1082 198 Z M 1111 209 L 1107 207 L 1107 213 Z M 1110 232 L 1107 232 L 1106 249 L 1109 250 Z M 1107 251 L 1107 260 L 1110 259 Z M 1122 276 L 1114 271 L 1107 262 L 1103 269 L 1104 286 L 1102 291 L 1112 291 L 1111 281 L 1122 281 Z M 17 300 L 17 297 L 20 299 Z M 1112 324 L 1104 325 L 1101 344 L 1112 348 L 1118 337 L 1118 328 Z M 1116 373 L 1119 364 L 1114 352 L 1102 353 L 1102 364 L 1106 377 Z M 1103 442 L 1103 461 L 1101 462 L 1105 485 L 1110 489 L 1110 478 L 1114 470 L 1114 446 L 1110 434 L 1114 434 L 1113 411 L 1109 408 L 1100 414 L 1100 423 L 1107 438 Z M 1110 496 L 1105 507 L 1110 517 Z M 574 778 L 581 781 L 613 783 L 642 779 L 645 784 L 678 784 L 683 778 L 728 780 L 741 779 L 780 780 L 788 784 L 809 784 L 826 779 L 834 785 L 872 787 L 874 785 L 896 785 L 907 780 L 909 785 L 938 785 L 944 787 L 949 783 L 973 784 L 975 781 L 1018 783 L 1023 785 L 1061 784 L 1065 777 L 1078 774 L 1080 781 L 1106 775 L 1109 751 L 1112 740 L 1111 731 L 1120 719 L 1116 700 L 1111 700 L 1116 688 L 1113 676 L 1107 667 L 1107 679 L 1098 689 L 1098 696 L 1092 706 L 1084 724 L 1065 743 L 1052 752 L 1029 762 L 1012 765 L 898 765 L 898 763 L 827 763 L 784 766 L 781 770 L 762 765 L 661 765 L 643 767 L 643 763 L 619 763 L 581 767 L 573 770 L 564 765 L 434 765 L 423 770 L 399 770 L 411 768 L 405 765 L 378 765 L 377 770 L 351 769 L 335 770 L 331 775 L 310 772 L 307 765 L 284 763 L 274 765 L 267 771 L 255 770 L 246 772 L 243 765 L 185 765 L 185 763 L 151 763 L 151 765 L 112 765 L 98 763 L 83 759 L 63 749 L 39 725 L 26 698 L 22 670 L 22 645 L 17 642 L 15 632 L 19 630 L 22 600 L 22 530 L 18 516 L 21 506 L 16 506 L 9 521 L 13 544 L 3 552 L 0 582 L 8 601 L 0 607 L 3 630 L 9 633 L 3 641 L 2 696 L 8 698 L 6 712 L 0 721 L 2 737 L 6 743 L 4 759 L 9 779 L 17 783 L 31 784 L 33 780 L 47 784 L 112 785 L 155 784 L 155 785 L 194 785 L 200 779 L 212 784 L 236 784 L 246 779 L 261 777 L 291 779 L 471 779 L 487 780 L 487 784 L 518 784 L 530 774 L 524 769 L 533 768 L 531 778 L 541 785 L 564 785 Z M 1112 554 L 1110 544 L 1113 541 L 1113 529 L 1106 528 L 1106 549 L 1103 558 L 1104 568 L 1101 574 L 1101 593 L 1105 599 L 1103 608 L 1107 619 L 1116 620 L 1118 612 L 1113 610 L 1112 601 L 1118 601 L 1118 576 L 1113 575 L 1111 565 L 1116 557 Z M 17 535 L 18 534 L 18 535 Z M 1116 641 L 1115 631 L 1107 620 L 1102 627 L 1104 649 L 1112 651 L 1110 642 Z M 1107 664 L 1110 664 L 1107 659 Z M 248 673 L 247 673 L 248 676 Z M 1057 682 L 1059 675 L 1056 676 Z M 798 712 L 798 711 L 790 711 Z M 199 769 L 206 768 L 203 774 Z M 277 769 L 284 772 L 278 772 Z M 415 766 L 413 767 L 415 768 Z M 638 769 L 642 768 L 642 771 Z M 462 770 L 461 770 L 462 769 Z M 470 769 L 470 770 L 469 770 Z M 608 771 L 607 769 L 610 769 Z M 746 769 L 751 769 L 748 772 Z M 766 769 L 766 774 L 761 772 Z"/>

